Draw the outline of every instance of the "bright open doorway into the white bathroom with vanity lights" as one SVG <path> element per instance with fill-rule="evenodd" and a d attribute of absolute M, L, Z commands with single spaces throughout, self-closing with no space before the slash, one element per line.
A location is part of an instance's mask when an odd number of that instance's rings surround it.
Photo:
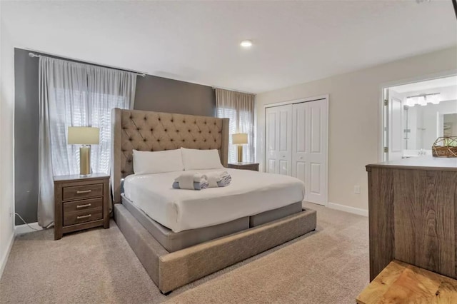
<path fill-rule="evenodd" d="M 457 76 L 383 88 L 383 161 L 431 156 L 436 138 L 457 136 Z"/>

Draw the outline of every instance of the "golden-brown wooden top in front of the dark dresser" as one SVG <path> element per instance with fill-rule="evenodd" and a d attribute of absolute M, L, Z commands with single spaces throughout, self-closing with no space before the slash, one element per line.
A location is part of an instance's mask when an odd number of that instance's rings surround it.
<path fill-rule="evenodd" d="M 356 301 L 358 304 L 457 303 L 457 280 L 393 260 Z"/>

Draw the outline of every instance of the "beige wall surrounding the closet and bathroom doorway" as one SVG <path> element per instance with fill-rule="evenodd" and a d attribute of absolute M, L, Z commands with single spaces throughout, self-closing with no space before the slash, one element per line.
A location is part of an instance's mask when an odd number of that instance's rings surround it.
<path fill-rule="evenodd" d="M 328 201 L 367 210 L 365 166 L 381 159 L 381 86 L 393 84 L 393 81 L 456 71 L 456 54 L 457 47 L 454 46 L 370 69 L 258 94 L 257 161 L 263 163 L 263 106 L 328 93 Z M 361 185 L 361 194 L 353 193 L 355 185 Z"/>

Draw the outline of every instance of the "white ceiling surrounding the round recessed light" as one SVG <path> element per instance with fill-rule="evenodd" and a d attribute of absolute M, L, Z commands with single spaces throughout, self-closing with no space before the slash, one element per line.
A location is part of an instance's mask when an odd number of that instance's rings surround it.
<path fill-rule="evenodd" d="M 1 22 L 22 48 L 252 93 L 457 44 L 451 0 L 1 1 Z"/>

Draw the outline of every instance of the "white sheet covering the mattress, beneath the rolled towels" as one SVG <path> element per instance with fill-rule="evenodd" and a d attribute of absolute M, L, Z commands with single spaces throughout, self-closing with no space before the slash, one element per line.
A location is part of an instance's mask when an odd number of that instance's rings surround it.
<path fill-rule="evenodd" d="M 226 223 L 303 200 L 304 183 L 298 178 L 224 170 L 231 174 L 230 186 L 201 191 L 171 187 L 184 171 L 131 175 L 124 181 L 124 195 L 154 221 L 174 232 Z M 190 172 L 210 171 L 221 169 Z"/>

